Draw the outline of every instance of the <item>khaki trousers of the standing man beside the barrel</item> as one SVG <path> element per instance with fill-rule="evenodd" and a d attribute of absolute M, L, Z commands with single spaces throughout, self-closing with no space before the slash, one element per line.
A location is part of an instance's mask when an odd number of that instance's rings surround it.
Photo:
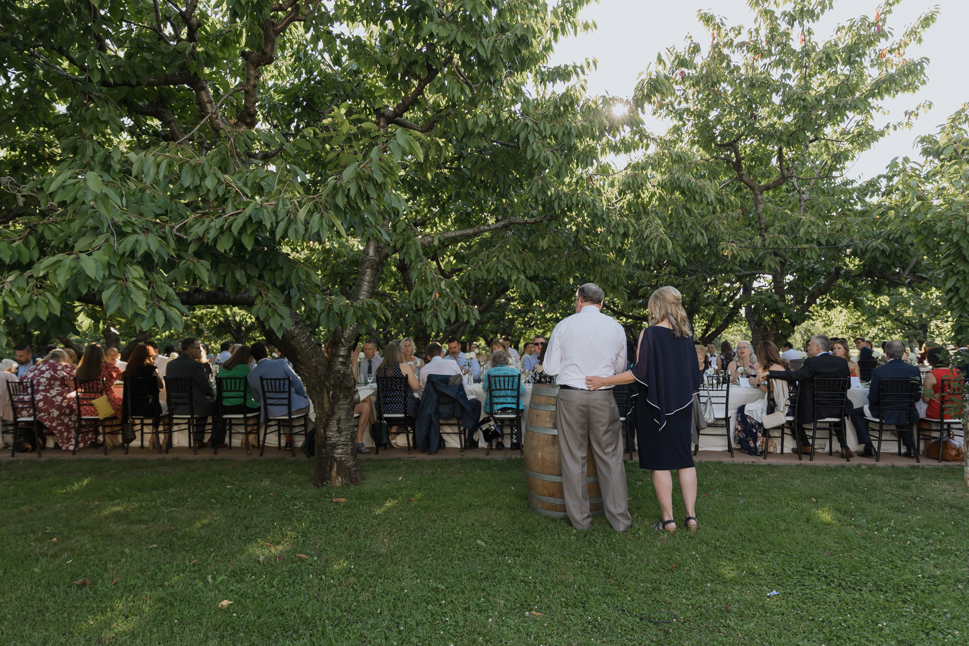
<path fill-rule="evenodd" d="M 622 427 L 612 390 L 560 388 L 555 404 L 555 426 L 562 453 L 565 510 L 572 526 L 585 531 L 592 522 L 585 484 L 586 459 L 591 447 L 606 518 L 616 532 L 628 530 L 633 519 L 629 515 L 626 468 L 622 460 Z"/>

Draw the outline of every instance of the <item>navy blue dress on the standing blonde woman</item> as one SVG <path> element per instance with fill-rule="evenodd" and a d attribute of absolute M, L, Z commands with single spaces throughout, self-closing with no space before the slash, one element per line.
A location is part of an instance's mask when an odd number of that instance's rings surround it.
<path fill-rule="evenodd" d="M 647 327 L 632 368 L 640 467 L 653 471 L 689 469 L 693 394 L 700 391 L 692 336 L 673 336 L 668 327 Z"/>

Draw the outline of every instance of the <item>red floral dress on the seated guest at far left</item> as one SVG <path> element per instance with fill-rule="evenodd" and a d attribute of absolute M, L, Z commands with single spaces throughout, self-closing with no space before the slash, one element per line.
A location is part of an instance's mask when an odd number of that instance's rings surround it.
<path fill-rule="evenodd" d="M 74 431 L 78 426 L 78 408 L 74 395 L 74 366 L 59 361 L 44 361 L 28 370 L 20 382 L 34 383 L 37 420 L 47 427 L 47 433 L 57 436 L 64 450 L 71 450 Z M 94 439 L 93 432 L 78 438 L 78 447 Z"/>

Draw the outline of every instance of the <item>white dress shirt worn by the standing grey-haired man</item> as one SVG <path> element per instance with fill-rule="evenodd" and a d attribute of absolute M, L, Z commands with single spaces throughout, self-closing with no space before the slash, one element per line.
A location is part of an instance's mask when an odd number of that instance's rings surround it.
<path fill-rule="evenodd" d="M 555 325 L 542 366 L 549 375 L 557 375 L 556 384 L 584 390 L 586 377 L 626 371 L 626 332 L 595 305 L 585 305 Z"/>

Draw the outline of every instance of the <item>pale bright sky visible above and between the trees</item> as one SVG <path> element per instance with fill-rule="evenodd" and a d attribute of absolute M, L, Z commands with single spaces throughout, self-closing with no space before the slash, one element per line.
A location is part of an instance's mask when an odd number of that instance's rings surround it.
<path fill-rule="evenodd" d="M 815 38 L 827 40 L 838 23 L 859 15 L 874 16 L 878 0 L 837 0 L 833 12 L 816 28 Z M 912 130 L 899 130 L 865 151 L 849 170 L 858 179 L 873 177 L 894 157 L 918 157 L 913 147 L 916 138 L 938 130 L 939 124 L 964 102 L 969 101 L 969 65 L 966 64 L 965 25 L 969 23 L 969 0 L 904 0 L 894 9 L 888 27 L 895 37 L 916 17 L 938 6 L 939 19 L 928 29 L 921 46 L 911 46 L 907 55 L 924 56 L 928 65 L 928 83 L 916 94 L 904 94 L 885 103 L 888 115 L 876 123 L 901 120 L 902 112 L 915 108 L 923 101 L 931 101 L 932 109 L 922 112 Z M 588 91 L 593 95 L 608 92 L 612 96 L 630 97 L 637 76 L 655 62 L 656 54 L 670 46 L 682 46 L 687 34 L 708 42 L 706 31 L 697 19 L 699 10 L 713 11 L 727 18 L 728 24 L 753 24 L 753 14 L 745 0 L 600 0 L 579 15 L 594 20 L 597 29 L 560 41 L 555 49 L 553 64 L 598 59 L 598 69 L 588 76 Z M 647 115 L 647 125 L 662 132 L 666 126 Z"/>

